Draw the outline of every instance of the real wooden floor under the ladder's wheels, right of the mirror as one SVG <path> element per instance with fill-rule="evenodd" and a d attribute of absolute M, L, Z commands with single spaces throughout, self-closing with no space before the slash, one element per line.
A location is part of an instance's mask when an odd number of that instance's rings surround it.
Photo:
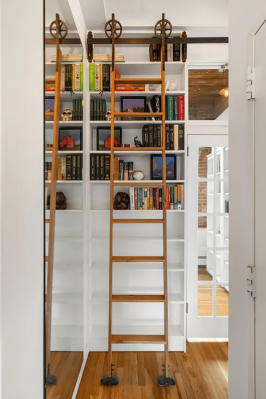
<path fill-rule="evenodd" d="M 174 387 L 159 387 L 161 352 L 114 352 L 116 387 L 100 385 L 107 354 L 90 352 L 76 399 L 228 399 L 228 344 L 187 343 L 187 352 L 170 352 Z M 70 399 L 58 397 L 58 399 Z M 57 399 L 57 398 L 56 398 Z"/>

